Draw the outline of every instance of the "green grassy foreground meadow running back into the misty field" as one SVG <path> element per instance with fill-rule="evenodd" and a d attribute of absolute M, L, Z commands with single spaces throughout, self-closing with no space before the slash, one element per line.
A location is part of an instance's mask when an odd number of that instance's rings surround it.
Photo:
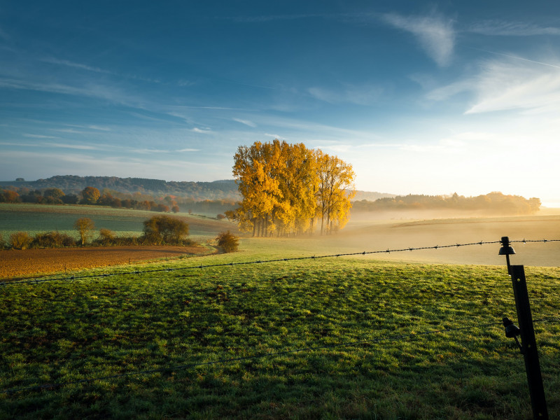
<path fill-rule="evenodd" d="M 558 222 L 358 219 L 330 237 L 244 238 L 231 254 L 8 283 L 0 419 L 531 419 L 524 359 L 501 324 L 517 320 L 499 244 L 256 261 L 559 239 Z M 515 243 L 512 256 L 526 265 L 550 419 L 557 244 Z M 255 263 L 193 268 L 230 262 Z"/>

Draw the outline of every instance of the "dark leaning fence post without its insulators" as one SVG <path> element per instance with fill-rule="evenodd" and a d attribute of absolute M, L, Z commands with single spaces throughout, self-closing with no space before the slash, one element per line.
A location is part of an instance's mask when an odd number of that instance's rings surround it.
<path fill-rule="evenodd" d="M 540 374 L 537 342 L 535 340 L 531 306 L 529 305 L 524 266 L 512 265 L 510 267 L 510 274 L 512 276 L 513 294 L 517 309 L 517 321 L 519 322 L 519 335 L 521 335 L 521 353 L 523 353 L 525 358 L 525 370 L 527 372 L 529 393 L 531 394 L 533 418 L 535 420 L 547 420 L 548 409 L 545 400 L 545 388 L 542 386 L 542 375 Z"/>

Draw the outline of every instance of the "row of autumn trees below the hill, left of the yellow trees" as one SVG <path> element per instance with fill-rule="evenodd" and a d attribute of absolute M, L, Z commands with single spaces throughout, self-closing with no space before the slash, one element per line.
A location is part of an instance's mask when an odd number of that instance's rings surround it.
<path fill-rule="evenodd" d="M 165 195 L 153 197 L 142 193 L 122 193 L 115 190 L 87 186 L 77 194 L 66 194 L 60 188 L 43 188 L 31 190 L 27 187 L 14 187 L 0 190 L 0 202 L 8 203 L 36 203 L 36 204 L 90 204 L 109 206 L 116 209 L 138 209 L 149 211 L 178 212 L 189 211 L 197 214 L 223 214 L 227 210 L 235 209 L 235 200 L 202 200 L 190 197 Z"/>

